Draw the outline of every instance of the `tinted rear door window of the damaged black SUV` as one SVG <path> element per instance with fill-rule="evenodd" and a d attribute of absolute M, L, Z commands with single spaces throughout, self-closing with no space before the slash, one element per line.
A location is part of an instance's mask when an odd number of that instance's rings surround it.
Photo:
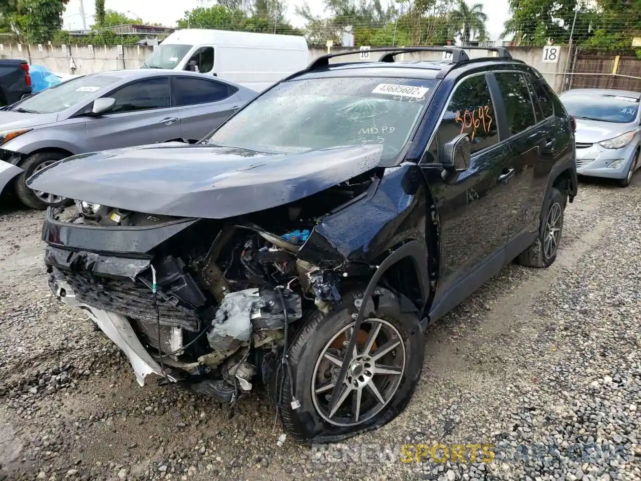
<path fill-rule="evenodd" d="M 534 105 L 525 77 L 517 72 L 494 72 L 507 114 L 510 135 L 516 135 L 537 123 Z"/>

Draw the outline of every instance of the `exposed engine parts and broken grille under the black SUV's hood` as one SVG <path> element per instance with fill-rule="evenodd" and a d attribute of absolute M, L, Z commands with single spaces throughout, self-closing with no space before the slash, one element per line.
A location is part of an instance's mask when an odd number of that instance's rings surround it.
<path fill-rule="evenodd" d="M 49 242 L 51 287 L 62 296 L 60 285 L 69 286 L 79 302 L 126 317 L 162 367 L 163 382 L 233 402 L 256 378 L 264 380 L 265 357 L 285 355 L 297 321 L 340 302 L 350 263 L 315 265 L 297 253 L 319 219 L 364 196 L 376 176 L 370 171 L 240 218 L 194 219 L 144 253 Z M 56 208 L 51 217 L 105 232 L 149 231 L 185 220 L 83 201 Z"/>

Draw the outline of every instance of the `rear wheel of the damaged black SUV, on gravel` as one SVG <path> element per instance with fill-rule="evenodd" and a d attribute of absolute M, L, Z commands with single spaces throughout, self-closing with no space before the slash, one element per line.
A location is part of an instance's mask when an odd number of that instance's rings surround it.
<path fill-rule="evenodd" d="M 517 257 L 517 264 L 525 267 L 543 269 L 556 260 L 558 244 L 563 233 L 563 213 L 567 205 L 567 196 L 556 187 L 550 191 L 550 201 L 541 215 L 541 224 L 537 239 L 528 249 Z"/>

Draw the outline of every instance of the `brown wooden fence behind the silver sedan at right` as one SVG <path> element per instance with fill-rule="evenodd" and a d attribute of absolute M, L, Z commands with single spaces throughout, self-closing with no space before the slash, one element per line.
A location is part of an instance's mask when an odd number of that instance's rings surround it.
<path fill-rule="evenodd" d="M 563 90 L 620 89 L 641 91 L 641 60 L 633 55 L 611 55 L 574 50 Z"/>

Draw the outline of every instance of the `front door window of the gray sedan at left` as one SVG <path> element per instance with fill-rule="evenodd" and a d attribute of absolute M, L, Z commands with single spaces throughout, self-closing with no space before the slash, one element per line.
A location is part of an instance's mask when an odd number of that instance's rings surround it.
<path fill-rule="evenodd" d="M 169 78 L 156 77 L 130 83 L 107 97 L 113 97 L 116 100 L 110 112 L 133 112 L 169 107 L 171 106 Z"/>

